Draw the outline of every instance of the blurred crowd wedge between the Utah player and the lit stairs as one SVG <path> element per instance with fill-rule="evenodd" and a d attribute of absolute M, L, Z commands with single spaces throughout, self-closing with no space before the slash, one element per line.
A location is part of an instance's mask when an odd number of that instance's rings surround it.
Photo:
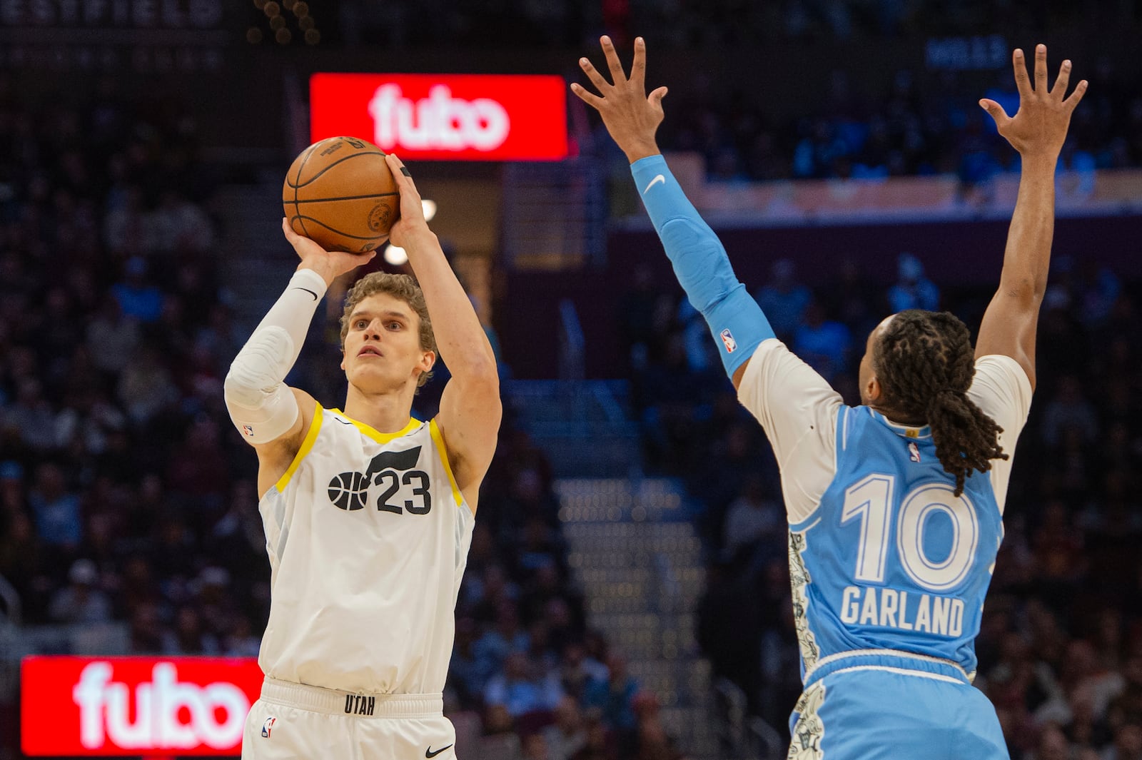
<path fill-rule="evenodd" d="M 489 759 L 681 760 L 654 695 L 585 626 L 557 511 L 547 458 L 508 421 L 456 611 L 457 742 Z"/>

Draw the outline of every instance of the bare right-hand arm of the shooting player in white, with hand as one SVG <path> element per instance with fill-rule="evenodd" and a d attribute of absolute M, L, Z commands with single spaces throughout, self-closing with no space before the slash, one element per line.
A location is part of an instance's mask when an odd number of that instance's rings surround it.
<path fill-rule="evenodd" d="M 425 221 L 412 177 L 396 155 L 389 153 L 385 160 L 401 192 L 401 218 L 389 240 L 409 254 L 432 317 L 436 348 L 452 375 L 441 395 L 436 425 L 456 485 L 474 511 L 480 483 L 496 453 L 502 415 L 496 356 L 468 294 Z"/>

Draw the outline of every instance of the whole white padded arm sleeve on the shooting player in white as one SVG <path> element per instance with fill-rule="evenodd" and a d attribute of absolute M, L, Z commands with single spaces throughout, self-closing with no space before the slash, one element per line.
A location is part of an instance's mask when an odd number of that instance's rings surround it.
<path fill-rule="evenodd" d="M 297 421 L 293 393 L 282 382 L 305 342 L 325 281 L 313 269 L 293 273 L 286 292 L 258 323 L 226 373 L 226 409 L 251 444 L 270 443 Z"/>

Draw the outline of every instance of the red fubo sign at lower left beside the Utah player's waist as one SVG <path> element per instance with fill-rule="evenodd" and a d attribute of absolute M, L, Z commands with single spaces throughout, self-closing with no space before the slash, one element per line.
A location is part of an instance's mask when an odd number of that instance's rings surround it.
<path fill-rule="evenodd" d="M 24 754 L 236 755 L 262 690 L 254 658 L 26 657 Z"/>

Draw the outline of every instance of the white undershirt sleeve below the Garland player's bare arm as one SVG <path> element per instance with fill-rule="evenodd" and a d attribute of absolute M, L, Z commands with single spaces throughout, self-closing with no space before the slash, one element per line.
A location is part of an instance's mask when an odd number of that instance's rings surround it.
<path fill-rule="evenodd" d="M 975 359 L 975 378 L 967 397 L 1003 428 L 999 445 L 1007 459 L 992 459 L 990 471 L 991 487 L 1002 515 L 1007 502 L 1011 466 L 1015 461 L 1015 442 L 1031 410 L 1031 381 L 1012 357 L 1000 354 L 981 356 Z"/>

